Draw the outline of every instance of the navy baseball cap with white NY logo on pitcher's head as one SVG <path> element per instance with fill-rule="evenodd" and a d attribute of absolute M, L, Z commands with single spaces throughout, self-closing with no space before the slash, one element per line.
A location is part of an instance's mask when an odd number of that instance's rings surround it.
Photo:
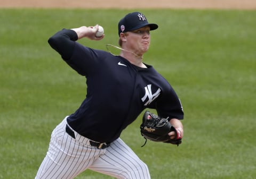
<path fill-rule="evenodd" d="M 149 25 L 150 30 L 155 30 L 158 28 L 158 25 L 155 23 L 148 23 L 145 15 L 140 12 L 129 13 L 124 16 L 118 23 L 118 35 L 120 36 L 121 32 L 129 32 L 136 29 L 140 29 Z"/>

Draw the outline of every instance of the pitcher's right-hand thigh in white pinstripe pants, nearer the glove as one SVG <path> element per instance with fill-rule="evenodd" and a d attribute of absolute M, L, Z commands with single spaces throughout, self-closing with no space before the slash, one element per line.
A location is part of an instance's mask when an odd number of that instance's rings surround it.
<path fill-rule="evenodd" d="M 147 165 L 120 138 L 89 168 L 120 179 L 150 179 Z"/>

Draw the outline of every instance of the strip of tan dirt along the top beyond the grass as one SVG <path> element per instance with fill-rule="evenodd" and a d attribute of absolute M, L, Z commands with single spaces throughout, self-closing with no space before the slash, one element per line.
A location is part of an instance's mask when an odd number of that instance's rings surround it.
<path fill-rule="evenodd" d="M 1 0 L 0 7 L 29 8 L 233 8 L 256 9 L 255 0 Z"/>

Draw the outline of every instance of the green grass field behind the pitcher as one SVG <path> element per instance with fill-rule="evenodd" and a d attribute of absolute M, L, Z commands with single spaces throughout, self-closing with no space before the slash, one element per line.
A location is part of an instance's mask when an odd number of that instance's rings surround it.
<path fill-rule="evenodd" d="M 80 42 L 106 50 L 117 45 L 117 22 L 131 11 L 0 9 L 0 178 L 34 178 L 52 130 L 86 95 L 83 76 L 47 39 L 100 24 L 103 40 Z M 177 91 L 185 136 L 179 147 L 148 141 L 141 148 L 140 116 L 122 139 L 154 179 L 255 178 L 256 11 L 139 11 L 159 25 L 144 59 Z M 77 178 L 111 177 L 85 171 Z"/>

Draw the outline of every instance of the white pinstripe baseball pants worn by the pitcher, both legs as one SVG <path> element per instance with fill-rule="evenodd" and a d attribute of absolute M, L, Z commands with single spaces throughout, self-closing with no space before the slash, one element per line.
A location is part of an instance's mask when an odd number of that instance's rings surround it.
<path fill-rule="evenodd" d="M 150 179 L 147 165 L 120 138 L 105 149 L 97 149 L 79 134 L 76 139 L 70 137 L 65 131 L 66 124 L 65 118 L 53 130 L 35 179 L 71 179 L 86 169 L 119 179 Z"/>

